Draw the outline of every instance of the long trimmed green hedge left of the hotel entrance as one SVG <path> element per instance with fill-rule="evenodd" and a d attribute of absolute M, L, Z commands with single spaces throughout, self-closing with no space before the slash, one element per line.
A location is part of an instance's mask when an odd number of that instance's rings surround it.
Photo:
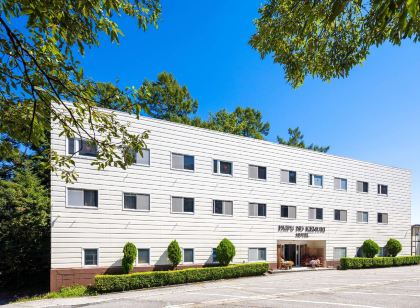
<path fill-rule="evenodd" d="M 95 289 L 100 293 L 126 291 L 206 280 L 258 276 L 267 271 L 268 263 L 258 262 L 226 267 L 188 268 L 125 275 L 96 275 Z"/>

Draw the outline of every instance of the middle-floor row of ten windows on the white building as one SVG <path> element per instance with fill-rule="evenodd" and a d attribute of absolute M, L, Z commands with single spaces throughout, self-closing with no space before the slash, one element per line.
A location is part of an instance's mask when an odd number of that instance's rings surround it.
<path fill-rule="evenodd" d="M 98 191 L 88 189 L 68 189 L 68 205 L 77 207 L 98 207 Z M 123 208 L 126 210 L 150 211 L 150 195 L 124 193 Z M 172 213 L 194 213 L 194 198 L 172 197 L 171 212 Z M 213 200 L 213 214 L 233 216 L 233 201 Z M 253 203 L 248 204 L 249 217 L 267 217 L 267 204 Z M 282 205 L 280 207 L 280 216 L 282 218 L 296 219 L 296 206 Z M 367 223 L 369 221 L 369 213 L 358 211 L 357 222 Z M 309 207 L 309 220 L 323 220 L 324 209 L 317 207 Z M 347 210 L 334 210 L 334 220 L 347 221 Z M 377 214 L 378 223 L 388 223 L 387 213 Z"/>

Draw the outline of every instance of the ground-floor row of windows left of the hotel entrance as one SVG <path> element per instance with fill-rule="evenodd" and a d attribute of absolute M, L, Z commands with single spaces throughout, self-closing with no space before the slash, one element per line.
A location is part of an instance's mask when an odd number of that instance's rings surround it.
<path fill-rule="evenodd" d="M 194 248 L 183 248 L 182 249 L 182 260 L 183 263 L 194 263 Z M 99 259 L 99 252 L 97 248 L 86 248 L 83 249 L 83 264 L 86 266 L 97 266 Z M 266 248 L 249 248 L 248 249 L 248 260 L 249 262 L 266 261 L 267 250 Z M 216 248 L 212 248 L 211 263 L 217 263 Z M 137 264 L 150 264 L 150 248 L 138 248 L 137 249 Z"/>

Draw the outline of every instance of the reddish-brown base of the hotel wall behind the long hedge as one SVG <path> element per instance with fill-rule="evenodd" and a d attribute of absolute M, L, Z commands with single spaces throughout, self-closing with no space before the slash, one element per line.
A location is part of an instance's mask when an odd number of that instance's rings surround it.
<path fill-rule="evenodd" d="M 194 264 L 179 265 L 177 269 L 199 268 L 211 265 Z M 270 269 L 277 268 L 276 263 L 270 263 Z M 142 266 L 135 267 L 133 272 L 149 272 L 168 270 L 170 266 Z M 95 267 L 95 268 L 54 268 L 50 270 L 50 291 L 59 291 L 62 287 L 71 285 L 92 285 L 98 274 L 122 274 L 121 267 Z"/>

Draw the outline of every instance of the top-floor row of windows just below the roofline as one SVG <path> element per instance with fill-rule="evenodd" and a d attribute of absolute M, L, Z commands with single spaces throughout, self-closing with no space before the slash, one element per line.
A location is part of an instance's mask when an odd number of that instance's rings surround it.
<path fill-rule="evenodd" d="M 68 153 L 83 156 L 96 156 L 97 149 L 93 144 L 90 144 L 83 139 L 70 138 L 68 141 Z M 141 155 L 140 153 L 133 153 L 133 158 L 135 159 L 136 164 L 149 166 L 150 150 L 143 149 Z M 177 170 L 194 171 L 194 156 L 179 153 L 171 153 L 171 167 Z M 213 173 L 232 176 L 233 162 L 214 159 Z M 248 165 L 248 176 L 251 179 L 267 180 L 267 167 Z M 281 170 L 280 179 L 282 183 L 296 184 L 296 171 Z M 324 176 L 319 174 L 309 174 L 308 184 L 313 187 L 322 188 L 324 186 Z M 347 179 L 338 177 L 334 178 L 334 189 L 347 191 Z M 369 183 L 357 181 L 356 191 L 368 193 Z M 388 185 L 378 184 L 377 193 L 378 195 L 387 196 Z"/>

